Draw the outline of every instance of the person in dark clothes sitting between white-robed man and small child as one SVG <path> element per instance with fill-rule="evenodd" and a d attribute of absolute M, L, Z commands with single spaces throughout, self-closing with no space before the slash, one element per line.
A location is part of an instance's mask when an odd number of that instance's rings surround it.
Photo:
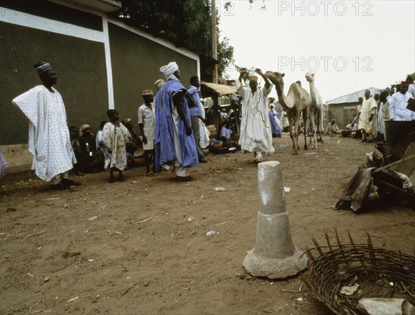
<path fill-rule="evenodd" d="M 104 155 L 96 147 L 95 135 L 89 124 L 81 126 L 79 141 L 82 152 L 82 171 L 95 173 L 104 169 Z"/>

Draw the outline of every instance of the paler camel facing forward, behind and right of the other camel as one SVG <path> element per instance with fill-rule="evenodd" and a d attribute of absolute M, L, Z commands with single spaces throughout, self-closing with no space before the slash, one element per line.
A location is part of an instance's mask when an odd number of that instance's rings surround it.
<path fill-rule="evenodd" d="M 323 99 L 320 92 L 315 88 L 314 81 L 315 81 L 315 71 L 311 71 L 306 73 L 306 80 L 310 84 L 310 96 L 311 96 L 311 106 L 308 109 L 308 125 L 311 122 L 311 132 L 313 133 L 314 137 L 314 144 L 313 149 L 317 149 L 317 141 L 320 143 L 324 143 L 323 140 Z M 315 113 L 317 113 L 317 130 L 320 131 L 320 137 L 317 140 L 315 136 Z M 308 128 L 306 128 L 308 130 Z M 311 144 L 311 136 L 310 136 L 310 144 Z"/>

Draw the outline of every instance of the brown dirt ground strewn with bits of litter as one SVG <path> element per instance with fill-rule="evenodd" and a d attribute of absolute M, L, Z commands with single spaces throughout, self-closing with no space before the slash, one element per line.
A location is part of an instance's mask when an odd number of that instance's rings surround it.
<path fill-rule="evenodd" d="M 375 246 L 414 254 L 409 205 L 374 202 L 359 214 L 332 209 L 374 145 L 324 139 L 293 156 L 284 135 L 266 158 L 281 162 L 291 188 L 286 209 L 295 245 L 304 251 L 311 238 L 322 244 L 337 229 L 344 242 L 346 230 L 356 242 L 369 232 Z M 149 178 L 138 168 L 115 184 L 104 172 L 75 177 L 82 186 L 69 191 L 49 191 L 39 180 L 1 187 L 0 313 L 330 314 L 298 276 L 268 280 L 244 271 L 259 210 L 252 160 L 252 153 L 208 155 L 190 183 L 171 173 Z"/>

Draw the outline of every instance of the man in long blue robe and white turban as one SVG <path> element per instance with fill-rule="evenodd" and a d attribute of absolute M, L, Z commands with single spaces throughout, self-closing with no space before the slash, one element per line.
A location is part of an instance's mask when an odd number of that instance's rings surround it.
<path fill-rule="evenodd" d="M 156 169 L 176 171 L 176 180 L 189 181 L 191 166 L 199 164 L 192 135 L 186 88 L 181 84 L 176 62 L 160 68 L 166 84 L 156 95 Z"/>

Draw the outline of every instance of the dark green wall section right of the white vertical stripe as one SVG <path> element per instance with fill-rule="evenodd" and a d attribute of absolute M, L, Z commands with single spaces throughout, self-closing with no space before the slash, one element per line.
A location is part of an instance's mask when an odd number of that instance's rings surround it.
<path fill-rule="evenodd" d="M 129 117 L 138 131 L 138 107 L 143 104 L 142 90 L 153 90 L 154 82 L 164 79 L 160 67 L 176 61 L 181 82 L 190 86 L 190 77 L 198 75 L 197 62 L 145 37 L 109 23 L 114 104 L 120 118 Z"/>

